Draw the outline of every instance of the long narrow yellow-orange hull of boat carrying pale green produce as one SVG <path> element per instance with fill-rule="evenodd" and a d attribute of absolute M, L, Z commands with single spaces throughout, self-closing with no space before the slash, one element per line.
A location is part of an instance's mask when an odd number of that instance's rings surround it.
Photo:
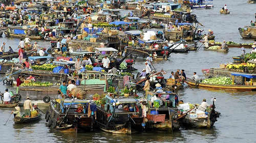
<path fill-rule="evenodd" d="M 223 90 L 237 90 L 237 91 L 256 91 L 254 85 L 222 85 L 222 84 L 209 84 L 199 81 L 185 81 L 191 87 L 214 88 Z"/>

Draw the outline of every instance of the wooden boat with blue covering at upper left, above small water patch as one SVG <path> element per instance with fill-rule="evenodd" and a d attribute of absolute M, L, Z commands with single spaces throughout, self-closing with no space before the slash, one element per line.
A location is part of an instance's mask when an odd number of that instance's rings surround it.
<path fill-rule="evenodd" d="M 11 26 L 11 27 L 7 27 L 7 29 L 4 31 L 4 33 L 5 33 L 6 37 L 25 38 L 25 36 L 28 36 L 28 38 L 30 38 L 30 39 L 35 39 L 35 40 L 42 39 L 41 36 L 26 35 L 25 31 L 26 30 L 23 28 L 20 28 L 20 26 Z"/>

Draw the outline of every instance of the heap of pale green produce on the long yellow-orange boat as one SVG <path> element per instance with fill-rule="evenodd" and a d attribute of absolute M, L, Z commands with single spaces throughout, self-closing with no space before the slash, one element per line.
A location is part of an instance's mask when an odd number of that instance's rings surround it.
<path fill-rule="evenodd" d="M 232 80 L 229 77 L 224 76 L 204 79 L 202 83 L 231 85 Z"/>

